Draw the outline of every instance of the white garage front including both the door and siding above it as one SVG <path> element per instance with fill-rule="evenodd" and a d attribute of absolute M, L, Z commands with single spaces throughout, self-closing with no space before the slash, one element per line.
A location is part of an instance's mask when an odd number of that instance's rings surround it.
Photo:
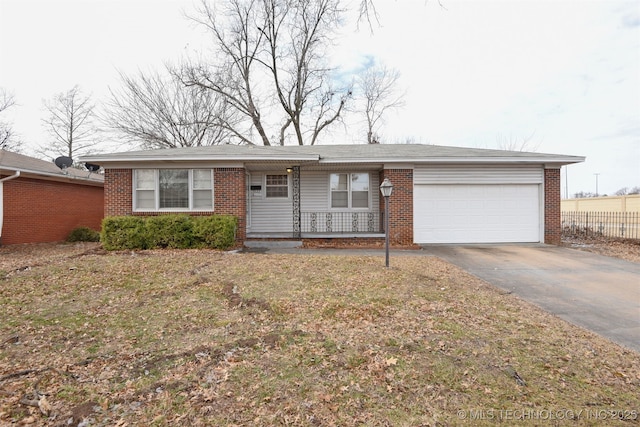
<path fill-rule="evenodd" d="M 421 166 L 414 170 L 416 243 L 544 239 L 540 166 Z"/>

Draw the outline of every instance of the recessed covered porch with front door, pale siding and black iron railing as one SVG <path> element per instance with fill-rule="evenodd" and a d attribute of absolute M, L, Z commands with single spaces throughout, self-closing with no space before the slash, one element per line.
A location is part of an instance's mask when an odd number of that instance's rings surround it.
<path fill-rule="evenodd" d="M 382 165 L 247 170 L 247 239 L 381 238 Z"/>

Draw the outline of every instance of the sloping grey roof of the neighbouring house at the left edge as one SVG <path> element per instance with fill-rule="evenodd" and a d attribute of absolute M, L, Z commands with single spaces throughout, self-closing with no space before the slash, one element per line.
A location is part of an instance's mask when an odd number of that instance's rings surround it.
<path fill-rule="evenodd" d="M 20 172 L 20 176 L 30 178 L 78 182 L 90 185 L 101 185 L 104 183 L 104 176 L 102 174 L 89 173 L 89 171 L 76 168 L 67 168 L 63 171 L 53 162 L 47 162 L 11 151 L 0 150 L 0 174 L 14 175 L 16 172 Z"/>

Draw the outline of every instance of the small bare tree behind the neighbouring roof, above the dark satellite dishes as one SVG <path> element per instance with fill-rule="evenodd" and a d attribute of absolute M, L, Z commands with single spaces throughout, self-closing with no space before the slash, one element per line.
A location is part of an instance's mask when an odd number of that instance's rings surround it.
<path fill-rule="evenodd" d="M 40 146 L 40 154 L 51 158 L 61 155 L 74 158 L 88 154 L 99 143 L 99 131 L 94 125 L 95 106 L 77 85 L 44 101 L 44 106 L 49 117 L 43 124 L 52 140 Z"/>

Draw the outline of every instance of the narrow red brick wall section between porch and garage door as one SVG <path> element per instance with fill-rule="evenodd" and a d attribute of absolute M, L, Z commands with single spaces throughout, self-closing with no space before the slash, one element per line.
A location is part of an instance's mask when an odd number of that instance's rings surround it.
<path fill-rule="evenodd" d="M 380 174 L 380 182 L 385 178 L 393 184 L 389 197 L 389 244 L 410 246 L 413 244 L 413 170 L 385 169 Z M 382 196 L 380 211 L 384 211 Z"/>

